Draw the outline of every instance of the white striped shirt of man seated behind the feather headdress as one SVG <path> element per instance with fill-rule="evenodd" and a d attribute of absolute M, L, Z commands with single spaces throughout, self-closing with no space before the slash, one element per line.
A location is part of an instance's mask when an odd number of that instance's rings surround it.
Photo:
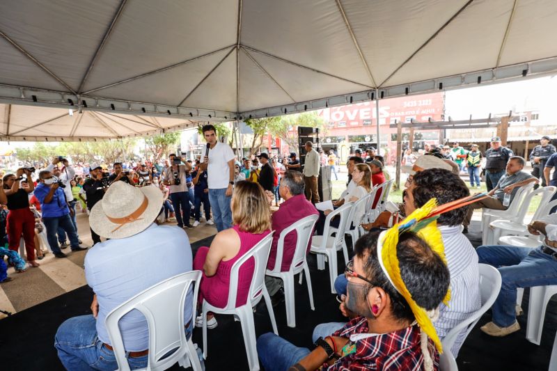
<path fill-rule="evenodd" d="M 480 309 L 480 270 L 478 254 L 460 226 L 439 226 L 448 271 L 450 273 L 450 301 L 448 306 L 441 303 L 439 319 L 434 322 L 439 338 L 443 339 L 457 324 Z M 455 358 L 466 338 L 466 329 L 457 336 L 455 345 L 450 349 Z"/>

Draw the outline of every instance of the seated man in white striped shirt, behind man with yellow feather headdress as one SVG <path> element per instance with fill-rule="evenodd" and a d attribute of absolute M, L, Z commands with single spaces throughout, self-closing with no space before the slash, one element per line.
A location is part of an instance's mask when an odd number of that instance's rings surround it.
<path fill-rule="evenodd" d="M 444 204 L 464 198 L 469 194 L 469 189 L 464 181 L 451 171 L 442 168 L 418 171 L 412 175 L 411 183 L 406 189 L 405 213 L 406 215 L 411 214 L 431 198 L 436 198 L 439 204 Z M 445 246 L 451 287 L 448 306 L 441 304 L 439 319 L 434 322 L 439 338 L 444 338 L 448 331 L 480 309 L 481 306 L 478 255 L 469 239 L 460 232 L 460 225 L 465 215 L 466 207 L 462 207 L 441 214 L 437 219 L 437 226 Z M 339 295 L 345 294 L 346 280 L 344 276 L 338 276 L 335 288 Z M 466 331 L 459 334 L 455 345 L 450 349 L 453 356 L 458 355 L 464 338 L 466 338 Z"/>

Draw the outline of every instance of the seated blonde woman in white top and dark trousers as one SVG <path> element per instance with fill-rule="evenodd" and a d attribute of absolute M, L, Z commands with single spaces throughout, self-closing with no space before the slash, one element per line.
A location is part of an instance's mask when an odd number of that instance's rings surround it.
<path fill-rule="evenodd" d="M 371 191 L 371 171 L 367 164 L 357 164 L 354 166 L 354 171 L 352 171 L 352 181 L 356 184 L 356 187 L 350 191 L 344 197 L 344 203 L 356 202 L 362 197 L 365 197 Z M 363 214 L 366 212 L 366 205 L 359 205 L 358 210 L 354 212 L 354 220 L 359 221 L 362 219 Z M 327 215 L 331 214 L 334 210 L 325 210 L 324 212 L 319 212 L 319 220 L 317 220 L 317 225 L 315 230 L 317 230 L 317 235 L 322 235 L 325 227 L 325 219 Z M 340 217 L 336 216 L 331 220 L 331 226 L 338 227 L 340 223 Z M 353 226 L 356 227 L 356 226 Z M 347 224 L 347 228 L 350 225 Z"/>

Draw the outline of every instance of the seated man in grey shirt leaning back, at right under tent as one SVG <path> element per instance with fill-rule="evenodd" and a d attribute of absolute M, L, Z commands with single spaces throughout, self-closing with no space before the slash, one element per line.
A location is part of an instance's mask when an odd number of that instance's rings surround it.
<path fill-rule="evenodd" d="M 476 209 L 482 209 L 483 207 L 488 207 L 489 209 L 495 210 L 507 210 L 508 206 L 515 198 L 517 191 L 520 187 L 525 186 L 528 183 L 538 183 L 538 178 L 533 177 L 530 173 L 522 171 L 526 165 L 526 161 L 520 156 L 512 156 L 507 162 L 507 168 L 505 168 L 505 175 L 499 179 L 496 187 L 489 191 L 488 198 L 479 200 L 475 203 L 469 205 L 468 214 L 464 218 L 464 233 L 468 233 L 468 226 L 472 220 L 472 214 Z M 510 200 L 508 204 L 504 204 L 505 195 L 510 194 Z"/>

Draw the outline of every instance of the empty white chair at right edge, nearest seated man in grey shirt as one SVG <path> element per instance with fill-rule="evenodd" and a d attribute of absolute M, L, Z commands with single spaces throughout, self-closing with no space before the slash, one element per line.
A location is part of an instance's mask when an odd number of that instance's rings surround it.
<path fill-rule="evenodd" d="M 543 187 L 526 194 L 517 214 L 508 214 L 506 219 L 498 219 L 489 223 L 489 228 L 486 228 L 485 233 L 483 233 L 485 239 L 482 244 L 496 244 L 496 242 L 499 241 L 499 237 L 502 235 L 528 236 L 528 228 L 526 227 L 526 221 L 524 219 L 534 196 L 539 195 L 541 197 L 540 207 L 538 207 L 538 210 L 536 210 L 532 217 L 532 220 L 538 220 L 549 215 L 551 207 L 548 208 L 548 203 L 549 200 L 551 200 L 551 196 L 555 194 L 556 190 L 557 187 Z M 557 200 L 554 201 L 554 205 L 557 205 Z"/>

